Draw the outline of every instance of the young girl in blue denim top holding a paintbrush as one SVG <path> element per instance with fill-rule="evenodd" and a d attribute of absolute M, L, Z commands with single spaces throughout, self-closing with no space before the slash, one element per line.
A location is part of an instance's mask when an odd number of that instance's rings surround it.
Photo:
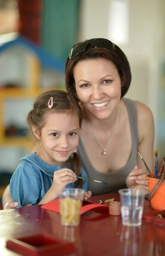
<path fill-rule="evenodd" d="M 45 204 L 58 198 L 65 187 L 83 188 L 84 199 L 90 198 L 87 181 L 76 178 L 87 177 L 74 152 L 81 121 L 81 109 L 73 95 L 51 90 L 35 100 L 27 123 L 38 151 L 21 158 L 10 181 L 12 200 L 20 202 L 18 207 Z"/>

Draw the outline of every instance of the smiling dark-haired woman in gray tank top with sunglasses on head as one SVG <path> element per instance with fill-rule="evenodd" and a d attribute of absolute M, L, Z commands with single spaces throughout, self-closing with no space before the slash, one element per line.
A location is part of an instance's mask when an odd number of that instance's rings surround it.
<path fill-rule="evenodd" d="M 78 43 L 70 50 L 65 75 L 67 91 L 78 97 L 84 114 L 77 149 L 81 165 L 88 177 L 108 183 L 90 182 L 92 194 L 126 186 L 147 193 L 147 170 L 137 148 L 153 172 L 153 115 L 144 104 L 123 99 L 131 82 L 124 52 L 104 38 Z"/>

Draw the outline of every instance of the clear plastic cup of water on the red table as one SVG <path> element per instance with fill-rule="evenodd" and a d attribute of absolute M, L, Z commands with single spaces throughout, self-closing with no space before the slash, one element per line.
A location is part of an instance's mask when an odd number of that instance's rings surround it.
<path fill-rule="evenodd" d="M 122 224 L 136 227 L 142 224 L 145 193 L 140 189 L 120 189 Z"/>

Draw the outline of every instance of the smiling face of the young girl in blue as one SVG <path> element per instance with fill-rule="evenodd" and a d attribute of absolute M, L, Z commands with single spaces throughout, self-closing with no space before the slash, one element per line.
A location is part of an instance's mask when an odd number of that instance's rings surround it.
<path fill-rule="evenodd" d="M 78 146 L 79 119 L 75 113 L 48 113 L 38 139 L 38 156 L 50 165 L 64 165 Z M 36 134 L 35 134 L 36 135 Z"/>

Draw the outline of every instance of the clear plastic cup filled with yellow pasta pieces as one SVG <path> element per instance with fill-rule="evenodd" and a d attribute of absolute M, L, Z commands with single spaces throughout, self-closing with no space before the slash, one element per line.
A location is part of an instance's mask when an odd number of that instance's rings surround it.
<path fill-rule="evenodd" d="M 84 199 L 84 189 L 65 189 L 59 198 L 61 224 L 64 226 L 78 226 L 80 223 L 80 209 Z"/>

